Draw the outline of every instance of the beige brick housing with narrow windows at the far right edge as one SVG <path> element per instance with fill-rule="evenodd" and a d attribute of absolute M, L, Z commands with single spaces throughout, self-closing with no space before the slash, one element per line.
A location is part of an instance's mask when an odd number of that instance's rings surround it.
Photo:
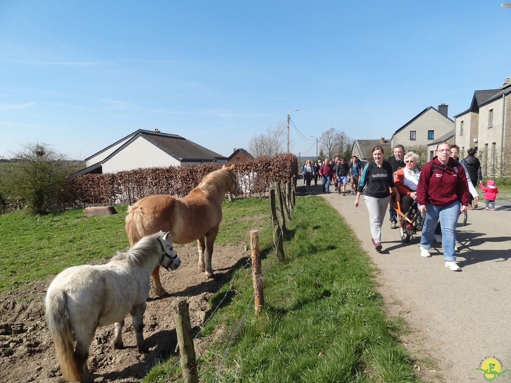
<path fill-rule="evenodd" d="M 455 115 L 454 141 L 459 157 L 477 151 L 483 176 L 511 174 L 511 77 L 500 88 L 476 90 L 470 108 Z"/>

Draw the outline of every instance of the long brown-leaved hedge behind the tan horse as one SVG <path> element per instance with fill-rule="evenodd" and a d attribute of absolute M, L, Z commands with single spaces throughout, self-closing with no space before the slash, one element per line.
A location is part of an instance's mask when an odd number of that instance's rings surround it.
<path fill-rule="evenodd" d="M 94 205 L 132 204 L 154 194 L 184 197 L 198 186 L 202 178 L 222 167 L 208 163 L 184 167 L 151 167 L 118 173 L 86 174 L 69 178 L 65 185 L 67 208 Z M 235 164 L 238 184 L 244 197 L 260 197 L 268 192 L 272 181 L 288 182 L 298 174 L 294 154 L 257 159 Z"/>

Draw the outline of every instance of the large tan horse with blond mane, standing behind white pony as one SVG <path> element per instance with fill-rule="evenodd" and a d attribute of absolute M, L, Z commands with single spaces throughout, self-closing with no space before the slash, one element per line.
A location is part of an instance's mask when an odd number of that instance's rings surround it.
<path fill-rule="evenodd" d="M 144 235 L 160 230 L 170 232 L 176 244 L 197 240 L 199 269 L 212 278 L 213 244 L 222 221 L 222 201 L 227 192 L 235 196 L 241 193 L 234 174 L 234 164 L 223 165 L 222 169 L 207 174 L 199 186 L 183 198 L 154 195 L 135 202 L 128 208 L 126 216 L 130 245 Z M 156 295 L 166 293 L 159 279 L 159 266 L 153 270 L 151 281 Z"/>

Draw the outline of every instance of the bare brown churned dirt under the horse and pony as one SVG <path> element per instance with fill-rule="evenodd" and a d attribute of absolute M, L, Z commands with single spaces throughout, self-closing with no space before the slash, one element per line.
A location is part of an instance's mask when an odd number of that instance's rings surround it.
<path fill-rule="evenodd" d="M 138 382 L 150 367 L 174 353 L 176 331 L 171 301 L 175 296 L 187 297 L 192 327 L 202 324 L 208 309 L 207 300 L 228 279 L 228 272 L 239 267 L 250 251 L 239 247 L 215 247 L 213 270 L 216 277 L 207 278 L 197 270 L 195 244 L 176 246 L 181 266 L 176 271 L 161 269 L 161 283 L 171 294 L 147 303 L 144 316 L 144 338 L 150 352 L 136 350 L 131 319 L 126 320 L 123 341 L 125 348 L 111 345 L 113 325 L 99 328 L 90 346 L 88 366 L 95 382 Z M 113 255 L 113 254 L 112 254 Z M 0 382 L 63 383 L 55 350 L 44 322 L 44 297 L 53 278 L 29 289 L 0 295 Z M 28 298 L 30 301 L 27 303 Z"/>

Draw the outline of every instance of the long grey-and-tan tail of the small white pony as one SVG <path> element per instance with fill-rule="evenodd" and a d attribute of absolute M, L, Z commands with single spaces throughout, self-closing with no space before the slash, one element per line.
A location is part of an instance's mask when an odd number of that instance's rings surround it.
<path fill-rule="evenodd" d="M 46 323 L 55 344 L 60 371 L 69 381 L 80 380 L 78 366 L 74 358 L 75 341 L 69 313 L 67 312 L 67 294 L 58 290 L 46 299 Z"/>

